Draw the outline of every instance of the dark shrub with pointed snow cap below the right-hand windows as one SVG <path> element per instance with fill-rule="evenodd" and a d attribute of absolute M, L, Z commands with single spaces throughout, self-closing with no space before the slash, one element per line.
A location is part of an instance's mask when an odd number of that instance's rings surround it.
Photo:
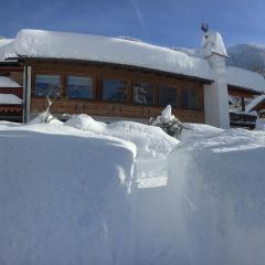
<path fill-rule="evenodd" d="M 168 135 L 178 138 L 184 128 L 178 118 L 172 115 L 171 106 L 168 105 L 157 118 L 151 117 L 149 125 L 158 126 Z"/>

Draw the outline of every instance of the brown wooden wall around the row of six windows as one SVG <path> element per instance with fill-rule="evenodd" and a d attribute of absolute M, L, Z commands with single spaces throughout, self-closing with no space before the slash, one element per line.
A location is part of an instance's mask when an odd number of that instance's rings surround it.
<path fill-rule="evenodd" d="M 161 113 L 163 107 L 158 106 L 159 85 L 176 87 L 178 92 L 178 106 L 180 106 L 181 89 L 197 88 L 199 92 L 198 109 L 173 108 L 173 114 L 182 121 L 204 123 L 203 83 L 188 78 L 179 78 L 168 74 L 158 74 L 151 71 L 139 71 L 137 68 L 125 68 L 123 66 L 93 65 L 89 63 L 60 62 L 31 60 L 28 65 L 32 66 L 32 98 L 31 113 L 36 114 L 46 108 L 45 98 L 34 97 L 34 78 L 36 74 L 60 74 L 61 97 L 53 105 L 54 114 L 81 114 L 91 116 L 120 117 L 149 119 Z M 68 99 L 65 95 L 66 76 L 84 75 L 94 80 L 95 99 Z M 128 99 L 126 103 L 104 102 L 102 98 L 102 81 L 104 78 L 123 80 L 128 86 Z M 131 85 L 134 81 L 151 83 L 155 87 L 155 106 L 132 104 Z"/>

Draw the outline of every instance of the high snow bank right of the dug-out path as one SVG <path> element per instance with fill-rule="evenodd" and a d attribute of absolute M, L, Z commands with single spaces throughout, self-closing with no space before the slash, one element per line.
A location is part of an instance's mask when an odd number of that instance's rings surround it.
<path fill-rule="evenodd" d="M 265 134 L 193 126 L 169 162 L 171 258 L 264 264 Z"/>

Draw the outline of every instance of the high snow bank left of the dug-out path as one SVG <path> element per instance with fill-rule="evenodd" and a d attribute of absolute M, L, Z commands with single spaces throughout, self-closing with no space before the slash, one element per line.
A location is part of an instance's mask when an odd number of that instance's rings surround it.
<path fill-rule="evenodd" d="M 1 123 L 0 146 L 0 264 L 132 264 L 131 144 Z"/>

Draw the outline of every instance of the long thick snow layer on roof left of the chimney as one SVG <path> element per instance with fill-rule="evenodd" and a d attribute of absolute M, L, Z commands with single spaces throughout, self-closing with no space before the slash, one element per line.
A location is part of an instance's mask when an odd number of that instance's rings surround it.
<path fill-rule="evenodd" d="M 119 38 L 21 30 L 13 42 L 0 49 L 0 60 L 18 56 L 87 60 L 213 78 L 212 70 L 204 59 Z"/>

